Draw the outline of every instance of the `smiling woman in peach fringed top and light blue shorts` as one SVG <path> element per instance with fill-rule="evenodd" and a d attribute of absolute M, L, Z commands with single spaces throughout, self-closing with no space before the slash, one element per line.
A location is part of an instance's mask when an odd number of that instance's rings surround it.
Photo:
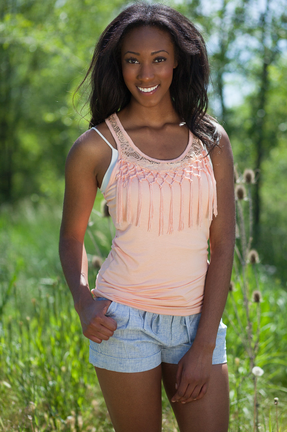
<path fill-rule="evenodd" d="M 89 76 L 59 250 L 112 424 L 161 431 L 162 380 L 181 432 L 227 431 L 233 159 L 206 114 L 203 38 L 172 8 L 136 3 L 101 35 Z M 93 299 L 84 234 L 98 187 L 116 234 Z"/>

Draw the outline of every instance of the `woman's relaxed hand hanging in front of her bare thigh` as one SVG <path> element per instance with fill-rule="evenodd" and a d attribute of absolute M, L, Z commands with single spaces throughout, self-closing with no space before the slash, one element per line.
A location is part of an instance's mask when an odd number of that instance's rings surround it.
<path fill-rule="evenodd" d="M 172 402 L 187 403 L 201 399 L 208 389 L 212 367 L 212 352 L 204 351 L 195 344 L 178 362 Z"/>

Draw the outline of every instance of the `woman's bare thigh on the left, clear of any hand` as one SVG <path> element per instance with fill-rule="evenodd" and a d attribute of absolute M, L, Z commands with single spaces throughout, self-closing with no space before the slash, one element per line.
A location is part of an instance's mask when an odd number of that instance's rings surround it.
<path fill-rule="evenodd" d="M 135 373 L 95 369 L 115 432 L 162 430 L 160 365 Z"/>

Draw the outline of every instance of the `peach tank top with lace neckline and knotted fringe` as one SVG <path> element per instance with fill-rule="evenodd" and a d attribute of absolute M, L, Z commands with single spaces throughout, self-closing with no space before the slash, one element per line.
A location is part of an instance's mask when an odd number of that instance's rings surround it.
<path fill-rule="evenodd" d="M 217 214 L 209 155 L 190 132 L 177 159 L 153 159 L 134 145 L 116 114 L 106 124 L 119 152 L 103 191 L 116 232 L 94 296 L 158 314 L 196 314 Z"/>

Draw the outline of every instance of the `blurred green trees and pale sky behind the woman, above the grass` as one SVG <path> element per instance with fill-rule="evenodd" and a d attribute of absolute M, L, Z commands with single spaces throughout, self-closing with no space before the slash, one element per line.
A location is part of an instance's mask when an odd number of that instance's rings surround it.
<path fill-rule="evenodd" d="M 127 2 L 4 0 L 0 4 L 0 202 L 61 205 L 67 152 L 87 121 L 72 107 L 95 41 Z M 171 3 L 172 4 L 172 3 Z M 210 111 L 240 171 L 256 173 L 254 240 L 287 280 L 287 12 L 284 0 L 175 4 L 206 35 Z M 82 95 L 81 105 L 86 95 Z M 87 110 L 83 116 L 88 120 Z"/>

